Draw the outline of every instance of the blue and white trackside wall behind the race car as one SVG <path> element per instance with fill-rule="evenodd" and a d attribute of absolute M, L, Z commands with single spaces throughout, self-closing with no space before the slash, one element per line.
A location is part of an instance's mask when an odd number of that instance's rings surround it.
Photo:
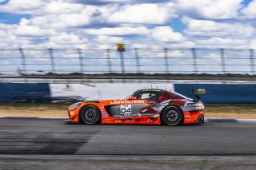
<path fill-rule="evenodd" d="M 0 83 L 0 102 L 56 102 L 67 99 L 122 99 L 137 89 L 171 89 L 193 98 L 191 89 L 206 88 L 204 103 L 256 103 L 254 84 L 48 84 Z"/>

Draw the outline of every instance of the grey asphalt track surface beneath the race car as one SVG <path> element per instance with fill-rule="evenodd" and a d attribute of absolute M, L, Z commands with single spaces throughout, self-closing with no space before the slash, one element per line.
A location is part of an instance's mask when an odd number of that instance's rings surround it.
<path fill-rule="evenodd" d="M 0 169 L 255 169 L 256 124 L 0 119 Z"/>

